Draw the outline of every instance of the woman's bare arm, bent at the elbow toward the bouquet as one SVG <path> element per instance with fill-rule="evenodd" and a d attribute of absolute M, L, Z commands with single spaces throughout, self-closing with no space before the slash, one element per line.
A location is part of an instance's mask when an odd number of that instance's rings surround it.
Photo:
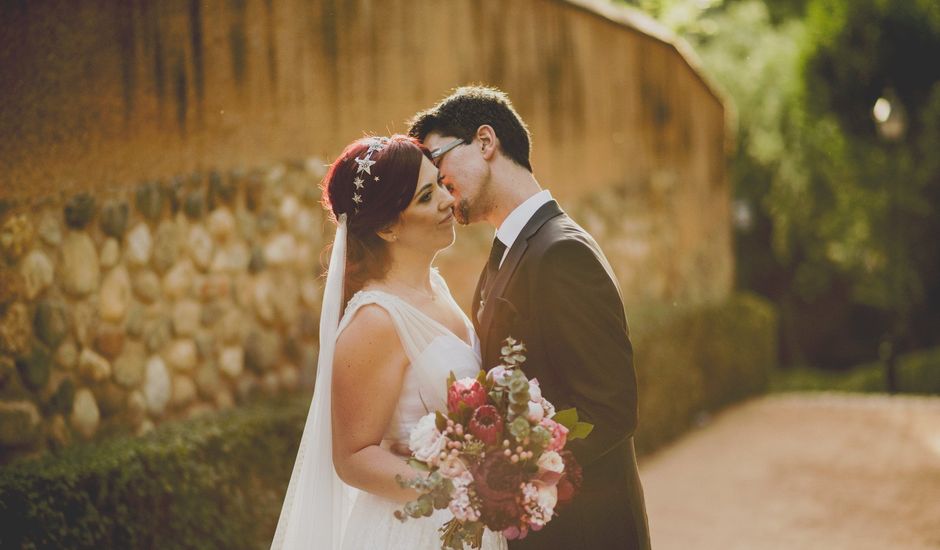
<path fill-rule="evenodd" d="M 362 307 L 336 342 L 333 361 L 333 464 L 353 487 L 398 502 L 417 497 L 395 481 L 419 475 L 379 444 L 394 415 L 408 358 L 388 313 Z"/>

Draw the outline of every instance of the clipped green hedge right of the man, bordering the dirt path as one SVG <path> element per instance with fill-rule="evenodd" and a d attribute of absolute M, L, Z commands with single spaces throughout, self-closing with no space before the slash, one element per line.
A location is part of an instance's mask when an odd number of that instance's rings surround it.
<path fill-rule="evenodd" d="M 636 445 L 649 453 L 708 413 L 765 392 L 777 364 L 777 316 L 735 294 L 700 308 L 630 311 L 640 391 Z"/>

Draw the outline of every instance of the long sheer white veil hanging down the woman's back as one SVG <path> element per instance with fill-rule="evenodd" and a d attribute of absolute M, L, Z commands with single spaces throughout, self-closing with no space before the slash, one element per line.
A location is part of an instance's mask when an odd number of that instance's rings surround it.
<path fill-rule="evenodd" d="M 330 394 L 336 331 L 343 308 L 346 214 L 341 214 L 338 222 L 320 309 L 320 356 L 313 401 L 271 550 L 339 550 L 356 492 L 333 468 Z"/>

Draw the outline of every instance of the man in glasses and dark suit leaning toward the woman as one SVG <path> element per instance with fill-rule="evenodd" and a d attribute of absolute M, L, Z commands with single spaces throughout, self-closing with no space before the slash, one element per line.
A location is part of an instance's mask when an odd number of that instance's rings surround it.
<path fill-rule="evenodd" d="M 559 410 L 594 424 L 569 444 L 584 470 L 581 491 L 520 549 L 648 549 L 633 432 L 636 371 L 623 300 L 594 239 L 542 190 L 529 163 L 529 131 L 503 92 L 457 89 L 418 113 L 409 133 L 431 150 L 462 224 L 496 229 L 473 298 L 483 366 L 502 341 L 525 343 L 526 375 Z"/>

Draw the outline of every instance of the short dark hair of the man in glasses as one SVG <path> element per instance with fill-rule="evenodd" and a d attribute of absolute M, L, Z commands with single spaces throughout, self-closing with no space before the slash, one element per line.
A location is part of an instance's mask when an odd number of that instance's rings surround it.
<path fill-rule="evenodd" d="M 489 86 L 464 86 L 411 119 L 408 135 L 421 141 L 431 132 L 473 141 L 477 128 L 488 124 L 503 153 L 529 172 L 529 129 L 505 92 Z"/>

